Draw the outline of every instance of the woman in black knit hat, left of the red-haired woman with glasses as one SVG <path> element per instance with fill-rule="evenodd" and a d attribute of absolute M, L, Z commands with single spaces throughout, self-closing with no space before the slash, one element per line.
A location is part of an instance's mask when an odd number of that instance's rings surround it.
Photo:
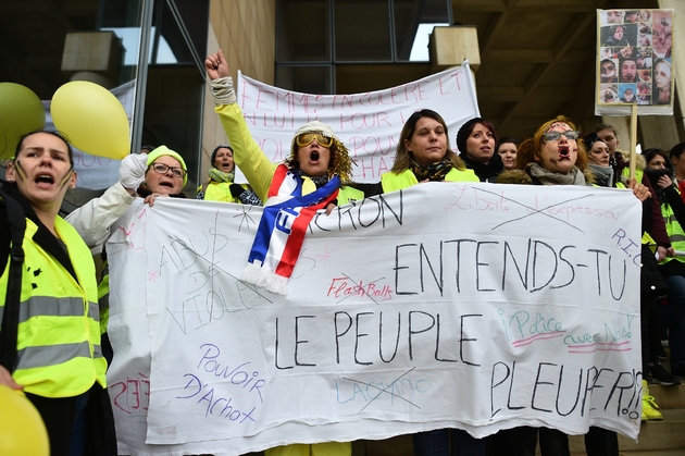
<path fill-rule="evenodd" d="M 459 158 L 481 182 L 493 182 L 502 171 L 502 159 L 495 153 L 496 144 L 495 125 L 486 119 L 471 119 L 457 133 Z"/>

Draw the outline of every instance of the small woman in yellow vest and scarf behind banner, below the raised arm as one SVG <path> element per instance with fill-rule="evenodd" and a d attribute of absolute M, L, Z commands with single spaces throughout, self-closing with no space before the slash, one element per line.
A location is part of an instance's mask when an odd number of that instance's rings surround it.
<path fill-rule="evenodd" d="M 241 202 L 261 206 L 262 201 L 248 185 L 234 183 L 236 163 L 231 146 L 222 144 L 212 151 L 209 170 L 210 181 L 198 187 L 198 199 L 207 201 Z"/>

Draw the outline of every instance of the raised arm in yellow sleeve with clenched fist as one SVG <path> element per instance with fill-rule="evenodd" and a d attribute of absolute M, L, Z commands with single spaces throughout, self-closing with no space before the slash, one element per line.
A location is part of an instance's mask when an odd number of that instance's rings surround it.
<path fill-rule="evenodd" d="M 216 104 L 214 110 L 228 136 L 231 147 L 233 147 L 236 167 L 242 171 L 260 199 L 266 201 L 275 164 L 260 149 L 248 130 L 242 111 L 236 102 L 228 62 L 226 62 L 221 49 L 207 58 L 204 67 L 211 79 L 212 98 Z"/>

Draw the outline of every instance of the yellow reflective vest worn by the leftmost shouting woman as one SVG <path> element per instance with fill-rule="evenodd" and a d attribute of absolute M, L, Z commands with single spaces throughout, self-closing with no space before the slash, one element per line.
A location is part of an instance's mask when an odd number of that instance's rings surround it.
<path fill-rule="evenodd" d="M 33 241 L 38 226 L 26 219 L 17 365 L 12 377 L 27 393 L 74 397 L 95 382 L 107 386 L 107 361 L 100 348 L 92 256 L 76 230 L 62 218 L 58 217 L 54 229 L 67 246 L 78 282 Z M 9 269 L 0 276 L 0 296 L 7 295 Z M 0 315 L 3 306 L 4 299 Z"/>

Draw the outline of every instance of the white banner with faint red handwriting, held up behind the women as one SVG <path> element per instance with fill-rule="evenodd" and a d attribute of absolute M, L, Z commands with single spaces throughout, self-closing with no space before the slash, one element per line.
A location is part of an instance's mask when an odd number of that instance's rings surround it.
<path fill-rule="evenodd" d="M 261 149 L 274 163 L 290 153 L 295 132 L 319 120 L 333 128 L 357 165 L 354 181 L 378 182 L 395 161 L 397 140 L 409 116 L 438 112 L 457 150 L 459 127 L 479 116 L 469 62 L 401 86 L 353 95 L 310 95 L 284 90 L 238 72 L 238 103 Z M 245 178 L 245 177 L 242 177 Z"/>

